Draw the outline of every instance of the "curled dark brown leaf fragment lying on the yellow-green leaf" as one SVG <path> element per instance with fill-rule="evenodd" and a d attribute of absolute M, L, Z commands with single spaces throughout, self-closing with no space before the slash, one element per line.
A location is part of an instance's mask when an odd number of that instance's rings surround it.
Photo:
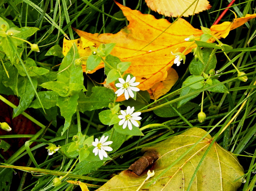
<path fill-rule="evenodd" d="M 152 165 L 158 159 L 156 151 L 146 151 L 141 158 L 132 164 L 128 170 L 134 172 L 136 175 L 141 175 L 148 166 Z"/>

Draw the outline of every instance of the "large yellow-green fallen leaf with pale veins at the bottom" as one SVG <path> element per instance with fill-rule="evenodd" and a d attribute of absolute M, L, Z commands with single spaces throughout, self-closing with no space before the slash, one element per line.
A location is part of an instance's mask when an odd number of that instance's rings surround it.
<path fill-rule="evenodd" d="M 206 131 L 200 128 L 191 128 L 186 132 L 159 142 L 152 147 L 145 147 L 145 151 L 158 152 L 159 158 L 150 168 L 154 170 L 155 176 L 172 164 L 189 147 L 193 146 Z M 150 191 L 180 191 L 187 190 L 187 186 L 193 176 L 195 168 L 204 155 L 206 149 L 211 144 L 212 138 L 207 135 L 197 146 L 192 149 L 182 160 L 176 163 L 155 183 L 147 187 L 147 184 L 154 178 L 150 178 L 141 190 Z M 97 191 L 131 191 L 136 190 L 147 177 L 147 170 L 138 176 L 135 173 L 125 170 L 119 175 L 111 178 Z M 242 183 L 244 175 L 243 167 L 239 164 L 235 155 L 223 149 L 216 142 L 200 165 L 197 175 L 189 190 L 196 191 L 236 191 Z"/>

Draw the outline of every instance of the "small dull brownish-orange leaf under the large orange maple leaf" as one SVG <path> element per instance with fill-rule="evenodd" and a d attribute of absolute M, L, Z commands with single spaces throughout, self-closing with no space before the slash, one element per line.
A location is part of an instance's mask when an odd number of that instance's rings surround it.
<path fill-rule="evenodd" d="M 161 82 L 156 83 L 148 89 L 148 93 L 150 95 L 150 98 L 153 100 L 157 100 L 160 96 L 165 95 L 176 83 L 178 80 L 179 76 L 177 72 L 173 69 L 170 68 L 167 71 L 167 78 Z"/>

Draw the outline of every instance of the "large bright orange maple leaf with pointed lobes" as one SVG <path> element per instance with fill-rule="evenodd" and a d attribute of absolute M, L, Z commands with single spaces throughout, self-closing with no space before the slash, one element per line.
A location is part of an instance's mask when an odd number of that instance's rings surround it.
<path fill-rule="evenodd" d="M 173 65 L 175 58 L 171 52 L 182 51 L 185 47 L 190 46 L 184 53 L 187 55 L 197 46 L 193 42 L 185 41 L 184 39 L 187 36 L 200 36 L 203 34 L 201 30 L 195 29 L 182 18 L 179 18 L 170 26 L 166 19 L 156 19 L 152 15 L 142 14 L 119 3 L 117 5 L 129 20 L 129 25 L 116 34 L 105 33 L 98 35 L 98 33 L 91 34 L 74 29 L 81 37 L 79 42 L 86 41 L 86 45 L 79 45 L 78 52 L 80 56 L 89 56 L 91 49 L 88 47 L 88 43 L 95 44 L 95 47 L 102 43 L 116 43 L 111 55 L 119 57 L 121 62 L 132 62 L 125 73 L 131 73 L 136 77 L 136 81 L 140 82 L 137 86 L 140 90 L 148 90 L 154 84 L 165 80 L 167 71 Z M 237 19 L 230 29 L 239 27 L 254 17 L 256 17 L 256 14 Z M 219 25 L 214 25 L 212 34 L 216 35 L 217 38 L 221 38 L 221 34 L 225 32 L 228 23 L 230 24 L 230 22 L 224 22 L 224 25 L 221 25 L 220 28 L 218 28 Z M 158 35 L 160 36 L 156 38 Z M 209 42 L 213 41 L 213 38 L 209 40 Z M 67 52 L 67 40 L 64 42 L 66 46 L 63 45 L 63 51 Z M 65 55 L 65 53 L 63 54 Z M 98 66 L 98 68 L 101 67 L 103 65 Z M 86 72 L 85 65 L 83 65 L 83 71 Z M 113 88 L 115 89 L 115 87 Z M 122 100 L 125 100 L 124 96 L 117 99 L 117 101 Z"/>

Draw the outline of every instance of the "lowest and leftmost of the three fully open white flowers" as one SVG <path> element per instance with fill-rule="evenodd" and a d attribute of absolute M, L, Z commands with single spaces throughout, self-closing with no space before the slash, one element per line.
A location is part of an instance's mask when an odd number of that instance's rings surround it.
<path fill-rule="evenodd" d="M 95 138 L 95 142 L 93 142 L 93 146 L 95 146 L 95 148 L 93 149 L 93 153 L 95 153 L 95 156 L 99 154 L 100 160 L 103 160 L 103 156 L 104 157 L 108 157 L 108 154 L 106 153 L 106 151 L 113 151 L 113 149 L 109 146 L 106 145 L 110 145 L 113 143 L 113 141 L 107 141 L 108 140 L 108 136 L 102 136 L 100 138 L 100 141 L 98 140 L 98 138 Z"/>

